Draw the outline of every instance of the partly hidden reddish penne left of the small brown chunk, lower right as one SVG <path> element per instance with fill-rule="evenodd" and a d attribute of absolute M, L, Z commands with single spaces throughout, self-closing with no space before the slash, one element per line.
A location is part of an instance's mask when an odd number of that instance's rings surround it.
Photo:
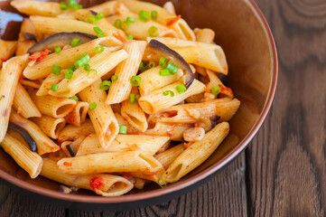
<path fill-rule="evenodd" d="M 193 127 L 191 124 L 165 124 L 162 122 L 156 123 L 152 129 L 144 131 L 145 135 L 170 137 L 174 141 L 182 141 L 183 132 Z"/>

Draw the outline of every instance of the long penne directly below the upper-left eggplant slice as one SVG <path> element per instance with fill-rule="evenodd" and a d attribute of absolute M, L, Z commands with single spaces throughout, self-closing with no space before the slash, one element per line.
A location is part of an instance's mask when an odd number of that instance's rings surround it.
<path fill-rule="evenodd" d="M 76 56 L 88 53 L 89 57 L 93 57 L 96 54 L 95 48 L 99 45 L 107 46 L 105 50 L 115 51 L 120 48 L 121 42 L 115 37 L 103 37 L 83 43 L 77 47 L 62 50 L 59 54 L 51 53 L 42 61 L 36 61 L 33 66 L 27 66 L 23 71 L 23 76 L 30 80 L 45 78 L 51 74 L 53 65 L 60 65 L 61 69 L 68 69 L 69 65 L 75 61 Z"/>

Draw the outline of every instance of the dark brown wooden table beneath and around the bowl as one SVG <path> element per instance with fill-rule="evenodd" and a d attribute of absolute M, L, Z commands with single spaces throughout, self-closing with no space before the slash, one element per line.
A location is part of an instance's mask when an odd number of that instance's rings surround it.
<path fill-rule="evenodd" d="M 274 105 L 247 151 L 199 189 L 125 212 L 65 210 L 0 185 L 0 216 L 325 216 L 326 4 L 256 0 L 279 53 Z"/>

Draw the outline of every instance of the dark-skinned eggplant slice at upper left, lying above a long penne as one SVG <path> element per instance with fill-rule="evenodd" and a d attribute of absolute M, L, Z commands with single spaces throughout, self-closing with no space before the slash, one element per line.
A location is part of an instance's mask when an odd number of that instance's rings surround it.
<path fill-rule="evenodd" d="M 78 38 L 80 39 L 80 44 L 89 42 L 96 37 L 87 33 L 56 33 L 51 35 L 50 37 L 42 40 L 41 42 L 37 42 L 28 49 L 27 52 L 33 53 L 33 52 L 41 52 L 45 49 L 50 50 L 51 52 L 54 51 L 54 48 L 56 47 L 63 47 L 64 45 L 70 44 L 70 42 L 74 39 Z"/>

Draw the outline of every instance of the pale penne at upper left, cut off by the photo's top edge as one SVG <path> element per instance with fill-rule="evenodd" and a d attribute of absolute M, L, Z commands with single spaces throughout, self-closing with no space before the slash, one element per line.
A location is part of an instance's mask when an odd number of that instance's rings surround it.
<path fill-rule="evenodd" d="M 56 16 L 63 13 L 59 3 L 54 2 L 14 0 L 10 2 L 10 5 L 27 15 Z"/>

